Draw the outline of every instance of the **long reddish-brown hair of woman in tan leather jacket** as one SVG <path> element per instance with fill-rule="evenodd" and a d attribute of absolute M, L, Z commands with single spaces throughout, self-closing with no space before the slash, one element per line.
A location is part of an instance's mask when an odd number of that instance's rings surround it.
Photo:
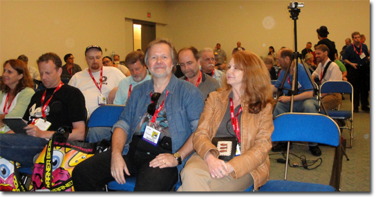
<path fill-rule="evenodd" d="M 250 113 L 259 113 L 268 103 L 273 102 L 273 91 L 270 83 L 270 74 L 261 58 L 246 50 L 232 55 L 235 66 L 243 71 L 243 90 L 241 100 L 248 104 Z M 218 91 L 227 91 L 232 88 L 227 84 L 227 77 L 223 77 L 223 84 Z"/>

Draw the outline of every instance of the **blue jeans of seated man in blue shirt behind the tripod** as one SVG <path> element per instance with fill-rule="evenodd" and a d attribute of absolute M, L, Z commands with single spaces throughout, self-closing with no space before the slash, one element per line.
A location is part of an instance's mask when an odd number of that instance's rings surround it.
<path fill-rule="evenodd" d="M 290 104 L 291 102 L 277 102 L 273 112 L 273 118 L 276 118 L 277 115 L 280 115 L 282 113 L 289 113 Z M 292 111 L 296 113 L 318 113 L 319 108 L 319 102 L 317 101 L 316 97 L 312 97 L 308 100 L 294 101 L 294 107 Z M 308 145 L 310 147 L 315 147 L 317 146 L 317 143 L 310 142 L 308 143 Z"/>

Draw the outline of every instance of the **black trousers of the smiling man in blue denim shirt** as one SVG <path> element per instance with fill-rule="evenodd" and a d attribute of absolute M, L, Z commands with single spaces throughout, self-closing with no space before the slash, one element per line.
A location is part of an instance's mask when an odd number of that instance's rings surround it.
<path fill-rule="evenodd" d="M 149 162 L 160 153 L 172 153 L 160 146 L 133 136 L 129 152 L 123 156 L 131 176 L 136 176 L 134 191 L 170 191 L 178 182 L 178 168 L 149 167 Z M 102 191 L 104 185 L 115 180 L 111 176 L 111 151 L 97 154 L 79 163 L 73 169 L 75 191 Z M 124 173 L 124 177 L 128 176 Z"/>

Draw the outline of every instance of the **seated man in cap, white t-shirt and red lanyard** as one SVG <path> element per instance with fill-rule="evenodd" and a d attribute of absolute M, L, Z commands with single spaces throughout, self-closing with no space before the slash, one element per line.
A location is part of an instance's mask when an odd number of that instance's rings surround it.
<path fill-rule="evenodd" d="M 84 94 L 89 115 L 100 105 L 113 104 L 119 82 L 124 79 L 124 74 L 118 68 L 103 66 L 102 48 L 91 45 L 85 50 L 85 60 L 88 68 L 73 75 L 69 85 L 79 88 Z M 110 128 L 111 129 L 111 128 Z M 109 129 L 95 129 L 88 132 L 89 142 L 104 138 L 111 139 Z"/>

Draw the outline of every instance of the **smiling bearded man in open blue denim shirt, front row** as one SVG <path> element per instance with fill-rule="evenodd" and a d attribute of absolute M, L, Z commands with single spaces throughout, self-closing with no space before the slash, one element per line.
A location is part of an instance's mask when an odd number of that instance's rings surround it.
<path fill-rule="evenodd" d="M 170 41 L 152 41 L 145 62 L 153 79 L 133 89 L 113 126 L 111 151 L 75 167 L 76 191 L 102 189 L 113 180 L 124 184 L 129 176 L 136 176 L 134 191 L 169 191 L 179 180 L 194 151 L 191 138 L 203 111 L 203 96 L 194 85 L 172 75 L 178 56 Z"/>

